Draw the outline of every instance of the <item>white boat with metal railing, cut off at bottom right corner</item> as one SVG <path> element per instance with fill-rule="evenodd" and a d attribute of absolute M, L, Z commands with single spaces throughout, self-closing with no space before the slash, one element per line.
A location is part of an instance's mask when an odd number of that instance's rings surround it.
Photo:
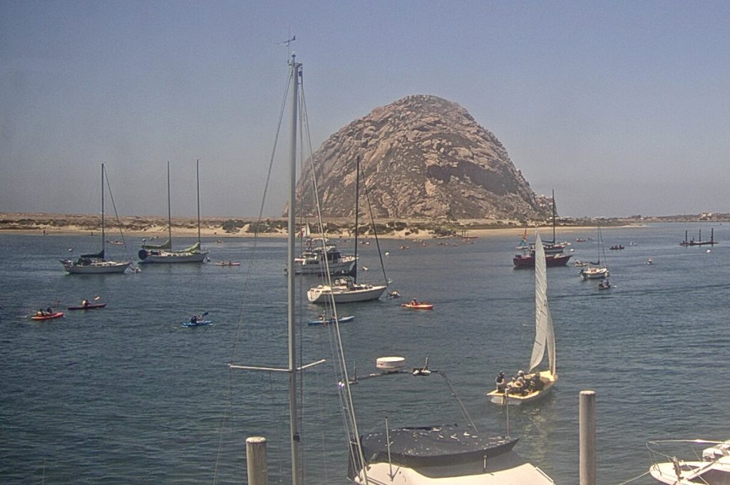
<path fill-rule="evenodd" d="M 661 451 L 665 448 L 669 450 L 669 447 L 674 450 L 677 445 L 684 446 L 686 456 L 691 456 L 691 458 L 683 459 L 677 457 L 674 452 Z M 730 440 L 650 441 L 647 443 L 647 448 L 653 457 L 653 464 L 649 468 L 649 473 L 662 484 L 730 484 Z M 700 454 L 699 449 L 702 449 L 702 454 Z"/>

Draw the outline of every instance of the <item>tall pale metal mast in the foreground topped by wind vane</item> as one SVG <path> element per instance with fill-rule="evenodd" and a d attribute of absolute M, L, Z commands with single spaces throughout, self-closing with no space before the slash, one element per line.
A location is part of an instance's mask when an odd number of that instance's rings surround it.
<path fill-rule="evenodd" d="M 296 345 L 294 321 L 294 218 L 295 190 L 296 190 L 296 130 L 297 130 L 297 103 L 299 102 L 299 76 L 301 63 L 296 62 L 296 54 L 292 53 L 291 63 L 291 144 L 289 146 L 289 220 L 288 220 L 288 260 L 287 260 L 287 290 L 288 290 L 288 351 L 289 351 L 289 427 L 291 432 L 291 483 L 299 485 L 299 430 L 296 403 Z"/>

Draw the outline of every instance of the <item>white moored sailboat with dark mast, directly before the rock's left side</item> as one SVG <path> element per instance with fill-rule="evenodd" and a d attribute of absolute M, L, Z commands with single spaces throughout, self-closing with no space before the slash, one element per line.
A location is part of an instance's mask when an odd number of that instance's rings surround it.
<path fill-rule="evenodd" d="M 355 188 L 355 257 L 358 258 L 358 214 L 360 198 L 360 158 L 357 159 L 357 176 Z M 380 247 L 378 248 L 380 251 Z M 388 289 L 388 284 L 358 283 L 358 268 L 353 266 L 353 276 L 340 276 L 331 284 L 318 284 L 307 291 L 307 299 L 312 303 L 327 303 L 334 299 L 335 303 L 354 303 L 357 301 L 377 300 Z M 383 271 L 385 275 L 385 271 Z M 386 279 L 387 282 L 387 279 Z"/>

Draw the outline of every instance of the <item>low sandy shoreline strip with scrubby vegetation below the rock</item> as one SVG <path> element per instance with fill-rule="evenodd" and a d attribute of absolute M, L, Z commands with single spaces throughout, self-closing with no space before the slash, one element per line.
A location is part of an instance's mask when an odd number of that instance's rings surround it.
<path fill-rule="evenodd" d="M 312 233 L 316 232 L 314 218 L 310 218 Z M 650 222 L 729 222 L 728 214 L 694 214 L 662 217 L 558 217 L 556 231 L 593 228 L 600 223 L 602 227 L 641 226 Z M 45 213 L 0 213 L 0 233 L 70 235 L 96 232 L 100 228 L 98 214 L 45 214 Z M 201 217 L 201 236 L 210 238 L 251 237 L 258 229 L 259 237 L 284 237 L 287 233 L 285 217 L 267 217 L 258 222 L 255 217 Z M 331 217 L 323 221 L 326 236 L 345 238 L 353 236 L 353 221 L 345 217 Z M 304 220 L 301 223 L 304 225 Z M 377 236 L 382 238 L 439 238 L 439 237 L 483 237 L 516 234 L 539 228 L 552 230 L 550 220 L 519 221 L 496 219 L 380 219 L 375 220 Z M 300 224 L 297 228 L 299 230 Z M 126 236 L 165 237 L 167 218 L 155 216 L 124 216 L 119 220 L 107 220 L 107 235 L 118 238 L 121 232 Z M 362 224 L 362 236 L 372 236 L 370 224 Z M 196 217 L 174 217 L 172 219 L 174 236 L 197 236 Z"/>

